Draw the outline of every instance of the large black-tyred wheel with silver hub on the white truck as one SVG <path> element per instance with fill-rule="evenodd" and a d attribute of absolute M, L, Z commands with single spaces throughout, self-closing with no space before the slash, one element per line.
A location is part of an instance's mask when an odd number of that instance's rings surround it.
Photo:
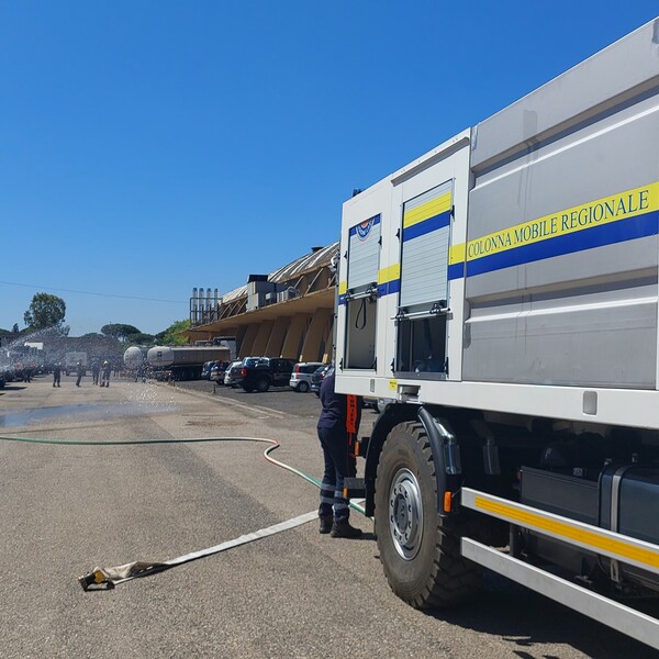
<path fill-rule="evenodd" d="M 478 570 L 460 556 L 469 522 L 437 514 L 435 463 L 423 425 L 395 426 L 376 480 L 378 548 L 391 590 L 415 608 L 448 606 L 470 595 Z"/>

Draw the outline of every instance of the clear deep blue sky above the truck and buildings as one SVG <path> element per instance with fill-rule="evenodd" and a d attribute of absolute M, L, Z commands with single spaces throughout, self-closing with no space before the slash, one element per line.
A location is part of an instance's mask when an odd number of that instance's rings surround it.
<path fill-rule="evenodd" d="M 71 335 L 159 332 L 192 287 L 224 293 L 335 241 L 354 188 L 658 14 L 656 0 L 3 0 L 0 327 L 45 291 Z"/>

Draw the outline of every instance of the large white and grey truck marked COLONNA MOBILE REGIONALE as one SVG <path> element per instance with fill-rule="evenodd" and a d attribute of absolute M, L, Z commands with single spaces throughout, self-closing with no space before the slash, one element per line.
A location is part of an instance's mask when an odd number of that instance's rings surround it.
<path fill-rule="evenodd" d="M 659 19 L 344 204 L 336 387 L 388 401 L 346 488 L 405 602 L 484 567 L 659 648 L 658 225 Z"/>

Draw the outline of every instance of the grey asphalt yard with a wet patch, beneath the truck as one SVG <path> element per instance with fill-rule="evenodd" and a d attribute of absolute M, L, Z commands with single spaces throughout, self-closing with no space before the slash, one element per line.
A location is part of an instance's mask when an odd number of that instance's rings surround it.
<path fill-rule="evenodd" d="M 208 384 L 208 383 L 206 383 Z M 315 407 L 314 407 L 315 405 Z M 315 410 L 315 411 L 314 411 Z M 317 400 L 290 391 L 89 378 L 10 384 L 0 432 L 65 440 L 257 436 L 321 476 Z M 317 506 L 317 489 L 252 443 L 57 446 L 0 442 L 0 656 L 655 656 L 524 589 L 491 580 L 471 603 L 415 611 L 389 590 L 369 520 L 361 540 L 315 522 L 115 590 L 83 592 L 92 568 L 164 560 Z"/>

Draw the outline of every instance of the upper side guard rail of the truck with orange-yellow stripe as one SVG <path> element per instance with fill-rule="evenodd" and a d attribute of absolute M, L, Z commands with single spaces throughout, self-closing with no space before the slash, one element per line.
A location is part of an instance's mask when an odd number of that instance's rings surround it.
<path fill-rule="evenodd" d="M 461 503 L 474 511 L 659 573 L 659 548 L 644 540 L 628 538 L 605 528 L 596 528 L 520 503 L 507 502 L 469 488 L 462 489 Z"/>

